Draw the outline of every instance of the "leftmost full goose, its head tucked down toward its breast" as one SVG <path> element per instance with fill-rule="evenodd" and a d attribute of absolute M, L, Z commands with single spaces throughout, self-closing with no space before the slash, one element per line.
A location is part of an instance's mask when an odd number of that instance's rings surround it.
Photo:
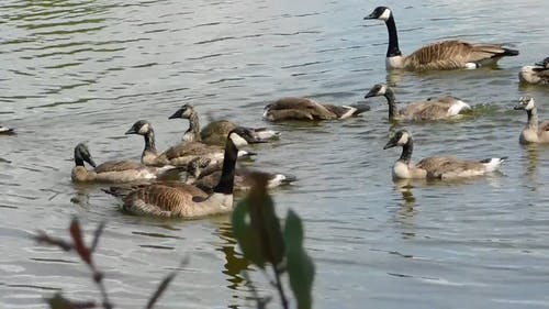
<path fill-rule="evenodd" d="M 87 169 L 85 162 L 90 164 L 93 169 Z M 149 167 L 131 161 L 109 161 L 96 165 L 88 146 L 79 143 L 75 147 L 75 167 L 70 176 L 75 183 L 130 183 L 156 179 L 173 168 L 173 166 Z"/>

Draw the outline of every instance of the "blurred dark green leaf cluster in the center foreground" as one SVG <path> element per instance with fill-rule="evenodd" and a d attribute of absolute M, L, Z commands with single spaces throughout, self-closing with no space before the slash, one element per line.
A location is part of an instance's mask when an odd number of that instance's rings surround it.
<path fill-rule="evenodd" d="M 272 266 L 276 279 L 272 285 L 280 295 L 283 308 L 289 307 L 280 278 L 287 273 L 298 308 L 310 309 L 315 269 L 303 247 L 301 219 L 290 210 L 282 233 L 274 203 L 267 192 L 267 175 L 253 173 L 249 177 L 254 186 L 249 195 L 238 202 L 232 217 L 238 245 L 244 256 L 262 271 L 268 265 Z"/>

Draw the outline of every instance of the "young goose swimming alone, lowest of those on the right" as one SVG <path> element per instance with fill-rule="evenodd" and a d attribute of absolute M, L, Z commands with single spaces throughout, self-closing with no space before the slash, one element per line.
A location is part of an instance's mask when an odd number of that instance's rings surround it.
<path fill-rule="evenodd" d="M 393 178 L 460 178 L 479 176 L 496 170 L 507 157 L 492 157 L 483 161 L 463 161 L 453 156 L 426 157 L 412 164 L 414 140 L 406 130 L 397 131 L 383 150 L 402 146 L 401 157 L 393 165 Z"/>

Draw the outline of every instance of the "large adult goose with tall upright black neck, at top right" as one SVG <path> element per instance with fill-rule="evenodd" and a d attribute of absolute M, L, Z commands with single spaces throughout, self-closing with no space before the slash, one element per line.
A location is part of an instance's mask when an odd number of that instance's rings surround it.
<path fill-rule="evenodd" d="M 378 7 L 365 20 L 382 20 L 389 31 L 389 47 L 385 66 L 388 69 L 411 70 L 477 68 L 495 63 L 503 56 L 516 56 L 518 51 L 502 47 L 501 44 L 470 44 L 463 41 L 442 41 L 426 45 L 408 56 L 399 48 L 399 36 L 393 12 L 386 7 Z"/>

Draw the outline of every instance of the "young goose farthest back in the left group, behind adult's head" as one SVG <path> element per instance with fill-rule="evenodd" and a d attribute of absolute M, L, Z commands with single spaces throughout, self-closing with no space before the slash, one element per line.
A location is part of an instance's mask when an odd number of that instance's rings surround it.
<path fill-rule="evenodd" d="M 183 104 L 168 119 L 188 119 L 189 129 L 183 134 L 186 142 L 202 142 L 209 145 L 224 145 L 228 132 L 235 129 L 236 123 L 228 120 L 217 120 L 210 122 L 206 126 L 200 130 L 199 114 L 191 104 Z M 267 142 L 268 140 L 279 136 L 280 132 L 269 130 L 267 128 L 247 128 L 259 142 Z M 249 141 L 246 141 L 247 143 Z M 237 145 L 242 146 L 242 145 Z"/>

